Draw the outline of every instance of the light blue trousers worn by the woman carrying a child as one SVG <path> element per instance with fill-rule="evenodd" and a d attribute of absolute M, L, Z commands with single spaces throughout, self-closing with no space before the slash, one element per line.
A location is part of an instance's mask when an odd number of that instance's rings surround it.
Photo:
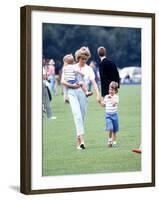
<path fill-rule="evenodd" d="M 87 98 L 81 88 L 68 88 L 68 97 L 76 127 L 77 136 L 84 134 L 84 121 L 87 110 Z"/>

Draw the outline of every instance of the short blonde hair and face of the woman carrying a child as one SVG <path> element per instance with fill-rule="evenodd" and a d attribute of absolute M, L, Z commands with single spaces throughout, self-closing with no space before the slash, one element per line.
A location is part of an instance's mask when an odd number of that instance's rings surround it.
<path fill-rule="evenodd" d="M 78 62 L 80 58 L 85 57 L 87 60 L 91 57 L 88 47 L 81 47 L 75 52 L 75 60 Z"/>

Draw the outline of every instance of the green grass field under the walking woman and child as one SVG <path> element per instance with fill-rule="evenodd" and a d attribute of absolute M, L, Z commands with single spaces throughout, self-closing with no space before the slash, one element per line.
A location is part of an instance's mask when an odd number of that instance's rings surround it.
<path fill-rule="evenodd" d="M 59 92 L 60 93 L 60 92 Z M 117 148 L 108 148 L 105 134 L 105 108 L 89 97 L 85 124 L 86 150 L 75 147 L 75 127 L 69 104 L 61 94 L 53 97 L 56 120 L 43 119 L 43 176 L 128 172 L 141 170 L 141 155 L 132 153 L 140 145 L 141 87 L 120 88 Z"/>

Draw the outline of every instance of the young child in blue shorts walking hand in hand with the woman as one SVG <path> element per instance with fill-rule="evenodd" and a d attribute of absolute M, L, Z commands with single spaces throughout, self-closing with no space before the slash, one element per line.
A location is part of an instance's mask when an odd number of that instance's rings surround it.
<path fill-rule="evenodd" d="M 106 107 L 106 131 L 108 131 L 108 147 L 116 146 L 116 133 L 119 131 L 118 104 L 119 96 L 118 83 L 112 81 L 109 85 L 109 94 L 104 100 L 100 100 L 101 106 Z"/>

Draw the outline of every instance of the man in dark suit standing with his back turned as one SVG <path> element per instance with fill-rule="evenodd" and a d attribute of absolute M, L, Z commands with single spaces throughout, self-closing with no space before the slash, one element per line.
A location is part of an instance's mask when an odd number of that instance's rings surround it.
<path fill-rule="evenodd" d="M 106 49 L 99 47 L 98 56 L 100 57 L 99 73 L 101 79 L 101 95 L 104 97 L 108 94 L 109 84 L 111 81 L 115 81 L 120 86 L 120 77 L 116 65 L 106 58 Z"/>

